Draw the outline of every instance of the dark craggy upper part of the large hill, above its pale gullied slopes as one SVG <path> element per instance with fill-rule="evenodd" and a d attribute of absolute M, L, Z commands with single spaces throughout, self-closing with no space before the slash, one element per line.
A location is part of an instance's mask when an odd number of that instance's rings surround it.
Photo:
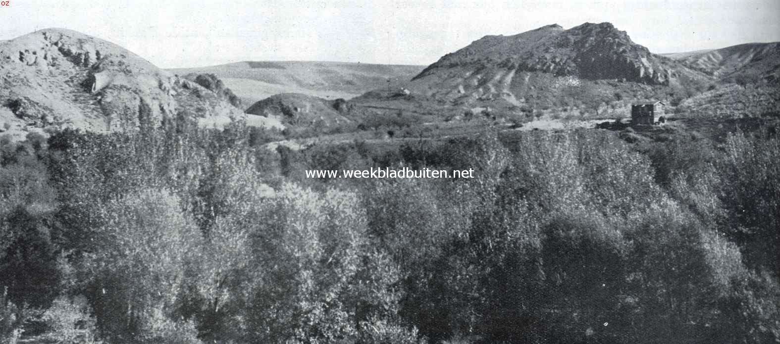
<path fill-rule="evenodd" d="M 456 66 L 497 66 L 524 72 L 668 84 L 674 63 L 631 41 L 611 23 L 584 23 L 569 30 L 557 24 L 514 36 L 486 36 L 445 55 L 414 80 Z"/>

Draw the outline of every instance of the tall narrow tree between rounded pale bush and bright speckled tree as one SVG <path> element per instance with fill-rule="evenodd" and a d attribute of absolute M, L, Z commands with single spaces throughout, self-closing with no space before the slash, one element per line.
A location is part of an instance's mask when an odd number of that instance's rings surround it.
<path fill-rule="evenodd" d="M 197 293 L 189 296 L 196 304 L 183 312 L 197 317 L 201 335 L 218 336 L 239 331 L 235 317 L 245 307 L 244 288 L 252 282 L 247 274 L 250 237 L 260 229 L 257 218 L 267 215 L 264 207 L 271 200 L 265 198 L 268 186 L 254 171 L 253 158 L 242 151 L 219 156 L 209 182 L 209 197 L 199 210 L 204 245 L 191 266 L 190 286 Z"/>

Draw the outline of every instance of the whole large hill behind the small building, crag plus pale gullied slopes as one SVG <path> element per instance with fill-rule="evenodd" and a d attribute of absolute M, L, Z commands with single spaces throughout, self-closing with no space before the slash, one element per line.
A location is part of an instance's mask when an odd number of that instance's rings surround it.
<path fill-rule="evenodd" d="M 428 66 L 410 89 L 498 109 L 597 109 L 626 99 L 684 98 L 711 79 L 651 53 L 611 23 L 584 23 L 483 37 Z"/>

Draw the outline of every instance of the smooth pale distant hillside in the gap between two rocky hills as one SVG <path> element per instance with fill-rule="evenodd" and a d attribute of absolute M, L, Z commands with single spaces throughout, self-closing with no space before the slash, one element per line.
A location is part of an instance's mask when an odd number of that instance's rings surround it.
<path fill-rule="evenodd" d="M 319 98 L 353 98 L 369 90 L 403 85 L 424 66 L 348 62 L 236 62 L 221 66 L 170 69 L 172 73 L 211 73 L 225 82 L 246 106 L 274 94 L 299 93 Z"/>

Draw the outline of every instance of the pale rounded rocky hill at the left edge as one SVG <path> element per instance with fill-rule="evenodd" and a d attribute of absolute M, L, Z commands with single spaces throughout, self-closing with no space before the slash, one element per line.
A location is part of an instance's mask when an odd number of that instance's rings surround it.
<path fill-rule="evenodd" d="M 45 29 L 0 43 L 0 131 L 73 127 L 94 132 L 185 119 L 219 126 L 243 112 L 211 90 L 108 41 Z M 253 118 L 255 125 L 277 125 Z"/>

